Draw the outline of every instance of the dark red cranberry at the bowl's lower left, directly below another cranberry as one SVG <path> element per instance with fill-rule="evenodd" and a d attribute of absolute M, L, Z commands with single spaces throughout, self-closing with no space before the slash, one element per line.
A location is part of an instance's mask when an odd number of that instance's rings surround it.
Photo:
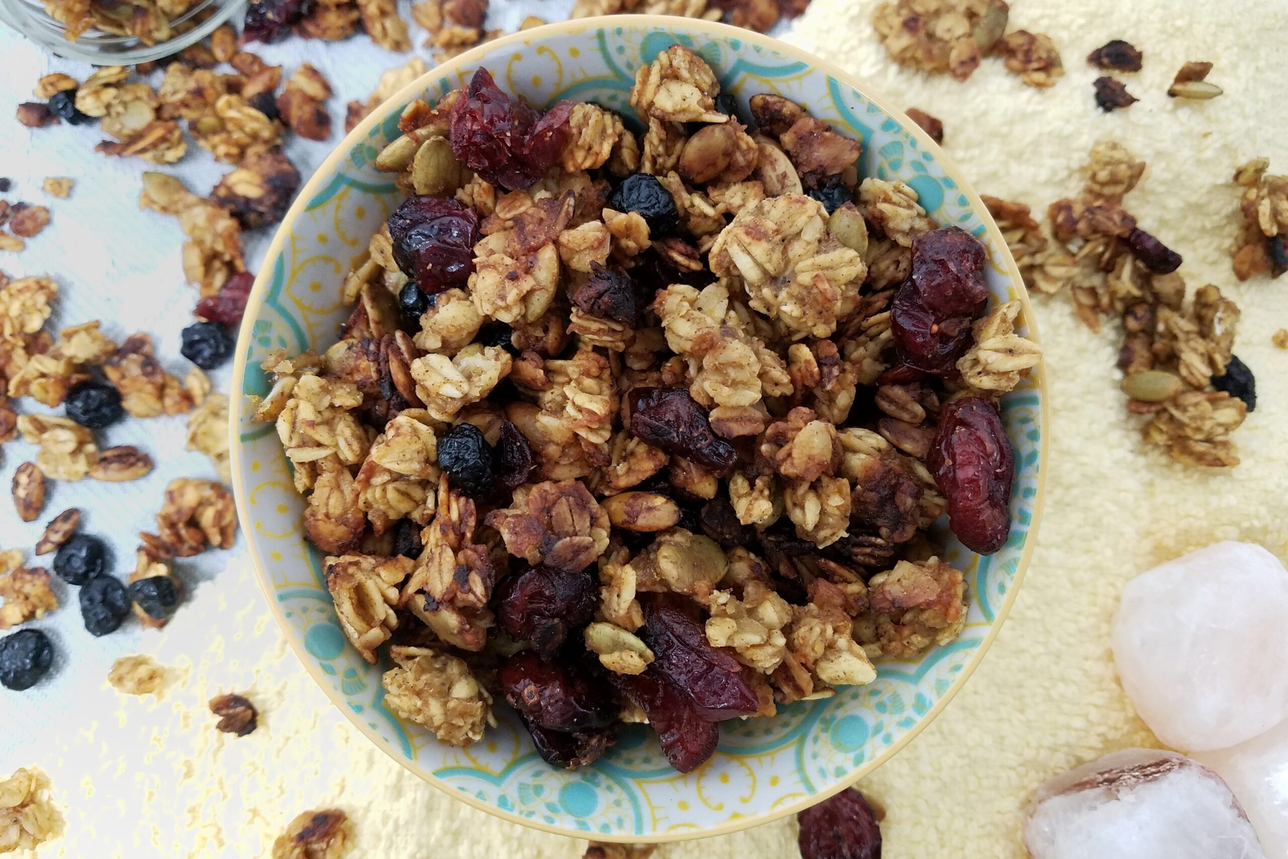
<path fill-rule="evenodd" d="M 576 662 L 547 662 L 520 650 L 501 666 L 497 683 L 511 707 L 550 730 L 591 730 L 617 721 L 612 693 Z"/>

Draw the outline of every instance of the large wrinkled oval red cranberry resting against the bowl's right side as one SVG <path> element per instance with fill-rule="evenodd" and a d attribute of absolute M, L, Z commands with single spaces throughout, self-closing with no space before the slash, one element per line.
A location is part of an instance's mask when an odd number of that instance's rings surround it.
<path fill-rule="evenodd" d="M 948 500 L 948 524 L 970 549 L 988 555 L 1006 543 L 1015 452 L 997 407 L 962 397 L 939 412 L 926 465 Z"/>

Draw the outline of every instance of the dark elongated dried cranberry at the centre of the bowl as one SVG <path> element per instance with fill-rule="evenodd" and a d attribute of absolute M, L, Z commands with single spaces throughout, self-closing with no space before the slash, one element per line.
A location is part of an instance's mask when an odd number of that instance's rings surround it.
<path fill-rule="evenodd" d="M 667 453 L 728 474 L 738 460 L 729 442 L 711 430 L 707 413 L 684 388 L 632 388 L 631 433 Z"/>

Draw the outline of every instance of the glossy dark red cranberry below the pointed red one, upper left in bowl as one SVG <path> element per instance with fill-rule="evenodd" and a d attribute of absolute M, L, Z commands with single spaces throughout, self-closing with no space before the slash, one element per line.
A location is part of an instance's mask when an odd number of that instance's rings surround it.
<path fill-rule="evenodd" d="M 389 216 L 394 261 L 422 292 L 465 288 L 474 270 L 479 219 L 460 200 L 408 197 Z"/>

